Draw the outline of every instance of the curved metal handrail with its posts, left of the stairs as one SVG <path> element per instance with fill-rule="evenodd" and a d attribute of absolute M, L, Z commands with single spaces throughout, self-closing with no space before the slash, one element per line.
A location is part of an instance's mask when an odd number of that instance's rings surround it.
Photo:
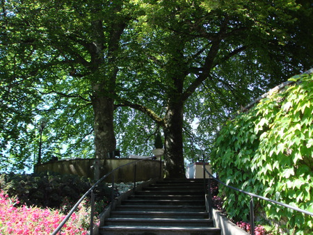
<path fill-rule="evenodd" d="M 147 159 L 157 159 L 158 157 L 160 158 L 160 177 L 161 177 L 161 165 L 162 165 L 162 159 L 161 156 L 163 154 L 160 155 L 155 155 L 155 156 L 148 156 L 145 159 L 138 159 L 136 161 L 132 161 L 131 163 L 126 163 L 124 165 L 119 166 L 118 168 L 115 168 L 114 170 L 112 170 L 111 172 L 107 173 L 106 175 L 104 175 L 102 178 L 100 178 L 97 182 L 95 182 L 95 184 L 89 188 L 89 190 L 77 201 L 76 204 L 74 204 L 74 206 L 72 207 L 72 209 L 70 210 L 70 212 L 67 214 L 67 216 L 65 216 L 65 218 L 62 220 L 62 222 L 60 223 L 60 225 L 58 225 L 58 227 L 56 229 L 54 229 L 54 232 L 51 233 L 51 235 L 56 235 L 58 234 L 58 232 L 61 232 L 61 229 L 63 228 L 63 226 L 65 225 L 65 223 L 67 222 L 67 220 L 70 219 L 70 217 L 72 216 L 72 213 L 74 213 L 74 211 L 76 211 L 76 209 L 78 208 L 79 204 L 81 204 L 81 202 L 85 199 L 85 197 L 87 197 L 89 194 L 91 194 L 91 212 L 90 212 L 90 235 L 93 235 L 93 212 L 94 212 L 94 206 L 95 206 L 95 195 L 93 193 L 94 189 L 104 180 L 106 179 L 106 177 L 109 177 L 109 175 L 112 174 L 112 195 L 111 195 L 111 205 L 114 204 L 114 172 L 116 170 L 119 170 L 120 168 L 124 168 L 127 165 L 132 165 L 134 164 L 135 170 L 134 170 L 134 189 L 136 189 L 136 164 L 139 161 L 145 161 Z"/>

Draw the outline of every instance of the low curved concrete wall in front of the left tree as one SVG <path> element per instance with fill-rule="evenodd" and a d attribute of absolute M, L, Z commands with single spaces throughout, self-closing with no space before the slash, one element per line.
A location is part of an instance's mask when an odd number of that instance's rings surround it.
<path fill-rule="evenodd" d="M 57 172 L 61 174 L 85 176 L 95 179 L 95 162 L 99 163 L 99 177 L 106 175 L 121 165 L 134 162 L 138 159 L 63 159 L 35 165 L 35 172 Z M 126 165 L 115 171 L 115 182 L 134 181 L 134 165 Z M 163 163 L 161 164 L 163 176 Z M 160 161 L 144 160 L 136 163 L 136 181 L 146 181 L 160 176 Z M 97 178 L 97 177 L 96 177 Z M 111 176 L 106 179 L 111 181 Z"/>

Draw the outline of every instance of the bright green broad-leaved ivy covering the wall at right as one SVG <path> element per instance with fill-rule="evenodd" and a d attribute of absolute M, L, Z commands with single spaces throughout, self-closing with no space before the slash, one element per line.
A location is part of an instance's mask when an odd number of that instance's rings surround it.
<path fill-rule="evenodd" d="M 211 157 L 222 181 L 313 212 L 313 76 L 294 76 L 280 92 L 262 99 L 220 130 Z M 221 188 L 225 209 L 247 220 L 250 197 Z M 266 213 L 280 229 L 313 231 L 312 216 L 255 200 L 256 214 Z"/>

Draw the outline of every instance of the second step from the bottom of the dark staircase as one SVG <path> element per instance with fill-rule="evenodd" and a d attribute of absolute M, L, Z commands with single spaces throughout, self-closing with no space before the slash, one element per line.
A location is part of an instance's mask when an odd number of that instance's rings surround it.
<path fill-rule="evenodd" d="M 171 227 L 213 227 L 209 219 L 184 218 L 107 218 L 105 225 L 115 226 L 171 226 Z"/>

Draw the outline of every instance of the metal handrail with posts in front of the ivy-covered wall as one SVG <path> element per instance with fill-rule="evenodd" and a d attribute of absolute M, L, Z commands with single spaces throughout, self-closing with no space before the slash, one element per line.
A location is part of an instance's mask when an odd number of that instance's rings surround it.
<path fill-rule="evenodd" d="M 259 199 L 262 199 L 262 200 L 265 200 L 265 201 L 268 201 L 268 202 L 272 202 L 274 204 L 278 204 L 280 206 L 284 206 L 284 207 L 287 207 L 289 209 L 292 209 L 294 211 L 299 211 L 301 213 L 305 213 L 309 216 L 313 216 L 313 213 L 310 212 L 310 211 L 305 211 L 303 209 L 300 209 L 296 206 L 290 206 L 289 204 L 285 204 L 285 203 L 282 203 L 282 202 L 278 202 L 278 201 L 275 201 L 275 200 L 271 200 L 267 197 L 262 197 L 260 195 L 257 195 L 257 194 L 254 194 L 254 193 L 249 193 L 249 192 L 246 192 L 246 191 L 243 191 L 239 188 L 235 188 L 233 186 L 230 186 L 230 185 L 227 185 L 225 184 L 224 182 L 220 181 L 219 179 L 217 179 L 216 177 L 214 177 L 213 175 L 211 175 L 211 173 L 205 168 L 205 161 L 203 162 L 203 177 L 204 177 L 204 180 L 205 180 L 205 173 L 207 173 L 209 175 L 209 193 L 211 191 L 211 184 L 210 184 L 210 179 L 214 179 L 215 181 L 217 181 L 218 183 L 220 184 L 223 184 L 224 186 L 228 187 L 228 188 L 232 188 L 234 191 L 238 191 L 240 193 L 245 193 L 246 195 L 249 195 L 251 197 L 250 199 L 250 234 L 254 235 L 255 234 L 255 219 L 254 219 L 254 212 L 253 212 L 253 197 L 257 197 Z M 211 215 L 211 212 L 212 211 L 212 203 L 211 203 L 211 197 L 209 197 L 209 214 Z"/>

